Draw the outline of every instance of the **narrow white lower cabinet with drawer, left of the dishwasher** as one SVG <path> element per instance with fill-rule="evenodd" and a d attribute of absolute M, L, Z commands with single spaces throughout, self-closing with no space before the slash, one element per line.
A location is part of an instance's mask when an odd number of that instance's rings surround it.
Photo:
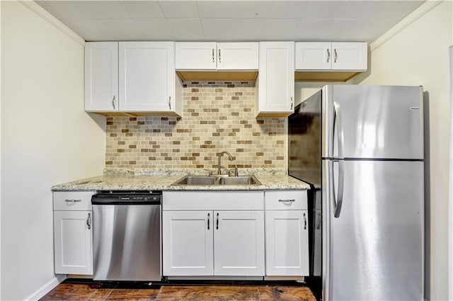
<path fill-rule="evenodd" d="M 93 274 L 91 191 L 54 193 L 56 274 Z"/>

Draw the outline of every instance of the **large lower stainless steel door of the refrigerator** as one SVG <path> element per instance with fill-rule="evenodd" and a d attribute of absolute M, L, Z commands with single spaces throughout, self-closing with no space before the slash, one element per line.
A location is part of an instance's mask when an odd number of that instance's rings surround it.
<path fill-rule="evenodd" d="M 325 161 L 324 300 L 423 300 L 423 162 Z"/>

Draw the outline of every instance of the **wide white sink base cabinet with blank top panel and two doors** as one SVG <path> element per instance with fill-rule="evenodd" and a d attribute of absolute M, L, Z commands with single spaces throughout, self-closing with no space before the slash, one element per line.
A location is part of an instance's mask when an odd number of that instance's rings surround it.
<path fill-rule="evenodd" d="M 263 208 L 262 191 L 164 191 L 164 276 L 264 276 Z"/>

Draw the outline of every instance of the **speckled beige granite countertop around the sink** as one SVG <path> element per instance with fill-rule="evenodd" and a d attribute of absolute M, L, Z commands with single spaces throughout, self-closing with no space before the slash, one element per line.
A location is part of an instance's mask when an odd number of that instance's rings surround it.
<path fill-rule="evenodd" d="M 253 173 L 261 185 L 206 185 L 187 186 L 171 184 L 190 172 L 107 172 L 78 181 L 62 183 L 52 191 L 263 191 L 278 189 L 309 189 L 309 185 L 290 176 L 278 173 Z M 200 175 L 200 173 L 198 173 Z"/>

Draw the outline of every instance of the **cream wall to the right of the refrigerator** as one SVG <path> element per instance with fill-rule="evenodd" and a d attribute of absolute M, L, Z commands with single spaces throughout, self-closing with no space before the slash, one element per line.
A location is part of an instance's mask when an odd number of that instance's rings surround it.
<path fill-rule="evenodd" d="M 435 6 L 428 1 L 423 8 Z M 413 15 L 414 16 L 414 15 Z M 406 18 L 393 37 L 371 45 L 371 69 L 355 79 L 360 84 L 422 85 L 429 93 L 428 174 L 428 300 L 448 300 L 449 199 L 449 57 L 452 44 L 452 1 L 444 1 L 408 24 Z M 405 27 L 407 25 L 407 27 Z M 391 36 L 391 35 L 386 35 Z M 382 44 L 381 44 L 382 43 Z"/>

